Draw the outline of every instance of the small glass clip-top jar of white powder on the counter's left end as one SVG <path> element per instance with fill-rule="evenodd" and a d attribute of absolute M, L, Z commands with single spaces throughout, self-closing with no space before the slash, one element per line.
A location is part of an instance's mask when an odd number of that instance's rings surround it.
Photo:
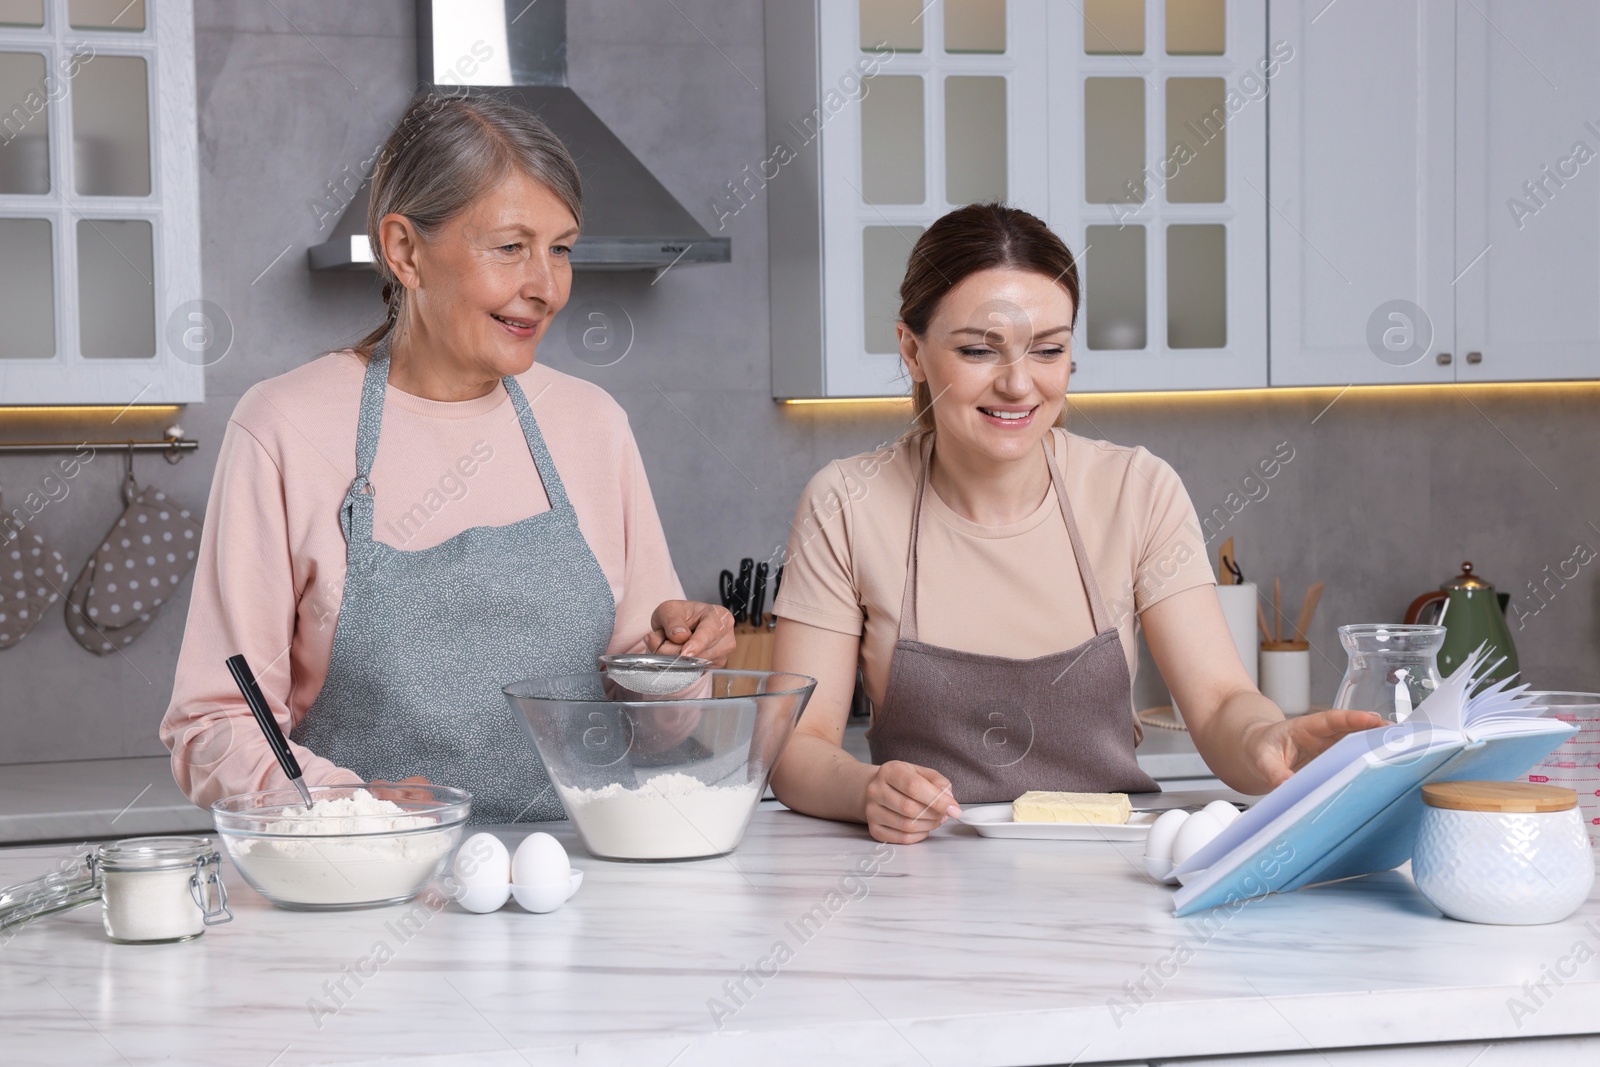
<path fill-rule="evenodd" d="M 90 862 L 112 941 L 187 941 L 232 918 L 210 838 L 131 837 L 101 845 Z"/>

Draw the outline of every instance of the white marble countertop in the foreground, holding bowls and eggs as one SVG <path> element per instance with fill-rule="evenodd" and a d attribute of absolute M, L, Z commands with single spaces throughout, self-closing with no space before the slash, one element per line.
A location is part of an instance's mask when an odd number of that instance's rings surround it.
<path fill-rule="evenodd" d="M 1389 872 L 1176 920 L 1138 845 L 950 825 L 886 846 L 765 803 L 726 857 L 616 864 L 566 824 L 544 829 L 586 873 L 550 915 L 294 913 L 227 869 L 235 920 L 194 942 L 110 944 L 93 907 L 11 931 L 5 1059 L 944 1067 L 1302 1051 L 1315 1064 L 1354 1046 L 1590 1033 L 1600 1019 L 1597 899 L 1558 925 L 1474 926 Z M 3 849 L 0 883 L 64 854 Z"/>

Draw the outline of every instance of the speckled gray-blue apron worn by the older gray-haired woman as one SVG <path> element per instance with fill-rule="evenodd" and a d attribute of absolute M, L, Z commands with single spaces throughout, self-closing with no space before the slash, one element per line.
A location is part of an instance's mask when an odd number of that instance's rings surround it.
<path fill-rule="evenodd" d="M 550 509 L 416 552 L 374 541 L 368 475 L 387 382 L 384 338 L 366 365 L 355 480 L 339 509 L 347 571 L 328 680 L 291 736 L 368 781 L 421 774 L 466 789 L 474 822 L 560 819 L 501 686 L 595 670 L 616 621 L 611 585 L 512 378 L 501 382 Z"/>

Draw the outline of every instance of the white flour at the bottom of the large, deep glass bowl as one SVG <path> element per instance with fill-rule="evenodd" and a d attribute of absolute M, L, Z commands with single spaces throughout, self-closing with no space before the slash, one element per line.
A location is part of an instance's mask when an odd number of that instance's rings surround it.
<path fill-rule="evenodd" d="M 755 782 L 706 785 L 658 774 L 638 789 L 560 789 L 584 843 L 613 859 L 690 859 L 731 851 L 760 798 Z"/>

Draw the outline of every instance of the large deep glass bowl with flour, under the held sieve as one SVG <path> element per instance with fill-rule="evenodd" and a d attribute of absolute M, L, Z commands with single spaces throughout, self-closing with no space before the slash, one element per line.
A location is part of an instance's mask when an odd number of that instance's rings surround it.
<path fill-rule="evenodd" d="M 589 854 L 674 861 L 738 848 L 814 688 L 797 673 L 706 670 L 662 696 L 605 672 L 504 691 Z"/>

